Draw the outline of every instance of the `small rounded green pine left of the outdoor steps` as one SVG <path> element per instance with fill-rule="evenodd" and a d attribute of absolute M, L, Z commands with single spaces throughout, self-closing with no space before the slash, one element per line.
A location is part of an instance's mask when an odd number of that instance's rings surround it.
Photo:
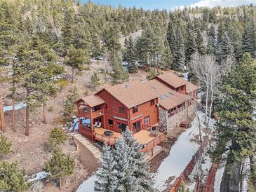
<path fill-rule="evenodd" d="M 60 146 L 60 144 L 64 144 L 65 141 L 67 141 L 67 135 L 62 128 L 56 126 L 50 131 L 48 138 L 48 143 L 50 146 Z"/>

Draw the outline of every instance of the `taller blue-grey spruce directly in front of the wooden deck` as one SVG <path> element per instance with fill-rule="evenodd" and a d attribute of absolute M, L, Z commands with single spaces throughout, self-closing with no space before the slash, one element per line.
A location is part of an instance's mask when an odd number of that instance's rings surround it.
<path fill-rule="evenodd" d="M 144 162 L 141 146 L 129 130 L 123 132 L 123 139 L 116 142 L 114 149 L 114 170 L 116 170 L 116 191 L 154 191 L 149 177 L 149 167 Z"/>

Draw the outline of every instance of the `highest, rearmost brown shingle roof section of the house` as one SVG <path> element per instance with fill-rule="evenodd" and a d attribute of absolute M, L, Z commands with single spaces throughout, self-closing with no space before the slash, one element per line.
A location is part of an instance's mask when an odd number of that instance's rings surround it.
<path fill-rule="evenodd" d="M 184 78 L 176 76 L 173 73 L 156 76 L 156 79 L 157 78 L 161 79 L 161 81 L 167 83 L 168 85 L 171 85 L 173 88 L 178 88 L 182 85 L 186 85 L 188 82 L 188 81 L 184 80 Z"/>

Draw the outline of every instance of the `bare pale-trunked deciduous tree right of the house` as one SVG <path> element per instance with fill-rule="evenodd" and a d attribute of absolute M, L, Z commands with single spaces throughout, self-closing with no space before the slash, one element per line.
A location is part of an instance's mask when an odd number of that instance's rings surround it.
<path fill-rule="evenodd" d="M 213 110 L 213 100 L 217 91 L 217 84 L 220 81 L 220 66 L 213 55 L 192 55 L 191 69 L 196 74 L 201 86 L 206 90 L 205 119 L 206 128 L 210 121 Z"/>

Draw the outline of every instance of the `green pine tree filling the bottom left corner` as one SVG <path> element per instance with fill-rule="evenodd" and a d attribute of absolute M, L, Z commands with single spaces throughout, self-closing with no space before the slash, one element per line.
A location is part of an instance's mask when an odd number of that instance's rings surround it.
<path fill-rule="evenodd" d="M 26 171 L 19 170 L 18 163 L 2 161 L 0 164 L 0 189 L 1 191 L 27 191 Z"/>

